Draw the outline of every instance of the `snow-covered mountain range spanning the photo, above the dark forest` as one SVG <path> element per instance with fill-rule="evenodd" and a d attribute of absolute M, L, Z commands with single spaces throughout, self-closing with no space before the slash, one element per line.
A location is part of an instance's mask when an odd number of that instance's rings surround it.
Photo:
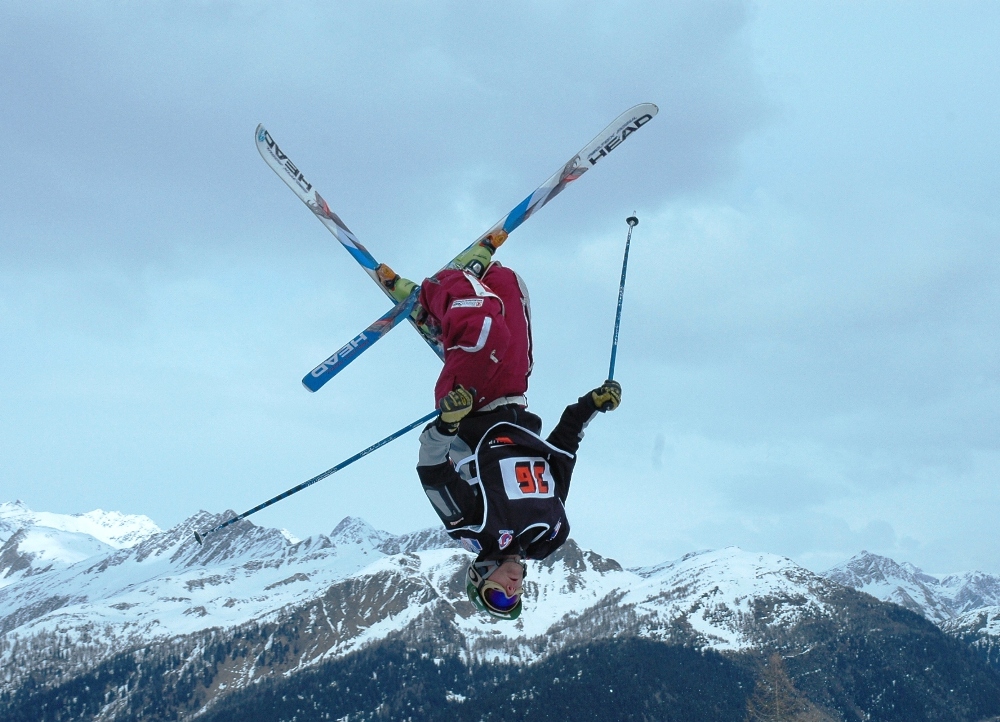
<path fill-rule="evenodd" d="M 195 541 L 195 530 L 232 515 L 199 512 L 160 531 L 146 517 L 0 505 L 0 692 L 38 669 L 57 666 L 66 679 L 153 648 L 186 658 L 206 639 L 230 635 L 248 651 L 213 667 L 223 681 L 211 694 L 229 694 L 276 673 L 260 660 L 274 653 L 279 629 L 277 671 L 286 676 L 387 639 L 433 638 L 470 664 L 534 663 L 621 637 L 755 651 L 789 644 L 788 630 L 800 624 L 840 624 L 853 603 L 842 585 L 916 606 L 939 624 L 987 610 L 969 624 L 989 634 L 1000 626 L 990 607 L 975 607 L 997 599 L 988 575 L 936 577 L 862 554 L 823 576 L 735 547 L 624 569 L 572 540 L 531 563 L 524 614 L 498 623 L 465 599 L 469 556 L 441 530 L 397 536 L 349 517 L 299 541 L 244 520 L 204 546 Z"/>

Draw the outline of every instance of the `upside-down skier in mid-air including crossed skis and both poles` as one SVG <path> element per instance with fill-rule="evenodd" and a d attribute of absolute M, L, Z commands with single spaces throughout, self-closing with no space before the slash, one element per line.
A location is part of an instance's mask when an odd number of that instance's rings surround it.
<path fill-rule="evenodd" d="M 654 104 L 641 103 L 615 118 L 485 236 L 453 259 L 445 271 L 422 283 L 419 299 L 416 294 L 411 296 L 417 284 L 400 278 L 375 260 L 264 126 L 258 125 L 254 132 L 264 161 L 397 302 L 389 313 L 314 368 L 303 379 L 303 385 L 317 391 L 407 313 L 425 340 L 444 357 L 445 366 L 435 386 L 438 409 L 432 412 L 439 418 L 421 437 L 418 472 L 448 533 L 478 555 L 469 568 L 470 599 L 495 616 L 513 619 L 520 614 L 524 559 L 544 558 L 565 541 L 569 524 L 563 503 L 569 493 L 574 454 L 583 428 L 598 411 L 617 408 L 621 400 L 621 387 L 610 379 L 614 378 L 628 240 L 609 380 L 568 406 L 547 440 L 538 436 L 541 419 L 527 411 L 525 397 L 531 373 L 528 294 L 517 274 L 492 264 L 492 256 L 509 233 L 645 126 L 657 112 Z M 631 227 L 638 219 L 630 217 L 626 221 L 631 239 Z M 415 305 L 417 300 L 419 304 Z M 327 478 L 423 424 L 432 414 L 263 504 L 204 533 L 196 531 L 195 539 L 202 544 L 207 534 Z M 505 430 L 510 433 L 502 434 Z M 501 448 L 502 453 L 492 453 Z M 540 531 L 543 527 L 549 530 L 547 538 Z M 501 591 L 505 593 L 501 595 Z"/>

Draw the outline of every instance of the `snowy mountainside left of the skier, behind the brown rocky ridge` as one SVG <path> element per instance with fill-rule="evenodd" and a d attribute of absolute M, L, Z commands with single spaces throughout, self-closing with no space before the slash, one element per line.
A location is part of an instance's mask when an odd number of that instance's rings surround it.
<path fill-rule="evenodd" d="M 155 638 L 232 626 L 300 603 L 385 557 L 384 544 L 399 553 L 442 542 L 433 533 L 397 538 L 345 519 L 330 536 L 301 542 L 243 523 L 198 545 L 196 529 L 232 515 L 202 512 L 131 547 L 104 545 L 104 553 L 20 575 L 0 589 L 0 633 L 16 630 L 22 638 L 58 633 L 100 656 Z M 37 527 L 28 529 L 37 536 Z M 99 548 L 101 542 L 92 542 Z"/>

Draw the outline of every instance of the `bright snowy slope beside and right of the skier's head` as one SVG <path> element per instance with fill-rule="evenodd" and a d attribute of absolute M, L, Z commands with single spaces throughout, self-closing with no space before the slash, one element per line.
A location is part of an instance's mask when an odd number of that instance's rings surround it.
<path fill-rule="evenodd" d="M 480 615 L 459 623 L 471 649 L 515 649 L 531 661 L 551 652 L 553 640 L 561 647 L 637 635 L 742 650 L 760 642 L 762 624 L 792 625 L 827 611 L 824 598 L 834 586 L 784 557 L 736 547 L 633 570 L 572 542 L 553 557 L 532 565 L 526 611 L 515 624 Z M 456 561 L 456 572 L 464 573 Z M 770 610 L 766 619 L 757 605 Z"/>

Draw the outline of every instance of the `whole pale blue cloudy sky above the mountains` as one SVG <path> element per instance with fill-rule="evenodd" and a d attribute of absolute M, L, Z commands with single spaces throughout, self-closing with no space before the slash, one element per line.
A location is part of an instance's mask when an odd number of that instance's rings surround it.
<path fill-rule="evenodd" d="M 0 4 L 0 500 L 242 511 L 432 408 L 386 300 L 264 165 L 263 122 L 422 277 L 625 108 L 660 113 L 499 256 L 531 408 L 607 373 L 574 536 L 627 565 L 738 545 L 1000 572 L 1000 6 Z M 436 522 L 416 435 L 255 521 Z"/>

